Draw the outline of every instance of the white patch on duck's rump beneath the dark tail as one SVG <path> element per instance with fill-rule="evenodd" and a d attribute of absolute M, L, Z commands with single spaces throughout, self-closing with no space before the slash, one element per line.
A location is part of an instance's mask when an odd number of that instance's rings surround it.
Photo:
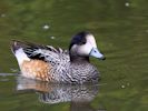
<path fill-rule="evenodd" d="M 27 60 L 27 61 L 30 61 L 30 59 L 27 57 L 27 54 L 23 52 L 22 48 L 18 49 L 14 53 L 17 60 L 18 60 L 18 63 L 19 65 L 21 65 L 21 63 Z"/>

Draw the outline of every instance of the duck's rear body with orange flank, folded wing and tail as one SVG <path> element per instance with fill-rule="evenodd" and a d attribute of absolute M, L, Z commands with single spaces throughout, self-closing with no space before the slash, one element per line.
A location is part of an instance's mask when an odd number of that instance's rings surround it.
<path fill-rule="evenodd" d="M 70 62 L 67 50 L 20 41 L 13 41 L 11 49 L 23 77 L 50 82 L 62 81 L 61 75 Z"/>

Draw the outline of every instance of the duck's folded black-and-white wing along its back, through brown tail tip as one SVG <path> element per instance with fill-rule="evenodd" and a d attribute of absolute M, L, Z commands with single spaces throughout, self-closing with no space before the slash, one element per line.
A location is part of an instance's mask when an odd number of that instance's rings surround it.
<path fill-rule="evenodd" d="M 70 60 L 67 50 L 53 48 L 51 46 L 39 46 L 14 40 L 12 42 L 11 49 L 13 53 L 16 53 L 16 51 L 19 49 L 22 49 L 28 58 L 50 62 L 52 65 L 66 63 Z"/>

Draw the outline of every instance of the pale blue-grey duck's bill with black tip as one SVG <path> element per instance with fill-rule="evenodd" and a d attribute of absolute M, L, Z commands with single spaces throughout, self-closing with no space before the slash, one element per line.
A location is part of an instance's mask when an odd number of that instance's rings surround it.
<path fill-rule="evenodd" d="M 97 48 L 92 48 L 89 56 L 98 58 L 100 60 L 105 60 L 105 56 L 102 53 L 100 53 L 100 51 Z"/>

